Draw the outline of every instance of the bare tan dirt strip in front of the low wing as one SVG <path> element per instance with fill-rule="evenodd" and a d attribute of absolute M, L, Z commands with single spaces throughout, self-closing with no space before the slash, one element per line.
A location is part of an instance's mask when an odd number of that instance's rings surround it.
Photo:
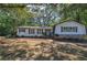
<path fill-rule="evenodd" d="M 29 45 L 36 45 L 36 44 L 41 44 L 41 43 L 52 43 L 53 40 L 50 39 L 28 39 L 28 37 L 21 37 L 21 39 L 10 39 L 11 41 L 13 41 L 12 43 L 26 43 Z"/>

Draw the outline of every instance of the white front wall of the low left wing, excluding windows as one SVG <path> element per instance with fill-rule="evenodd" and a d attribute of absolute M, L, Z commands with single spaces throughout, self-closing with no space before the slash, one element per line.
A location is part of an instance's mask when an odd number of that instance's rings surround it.
<path fill-rule="evenodd" d="M 20 29 L 20 28 L 21 28 L 21 29 L 24 28 L 24 29 L 25 29 L 25 32 L 23 32 L 23 33 L 22 33 L 22 32 L 19 32 L 19 29 Z M 36 26 L 36 28 L 35 28 L 35 26 L 20 26 L 20 28 L 18 28 L 18 32 L 17 32 L 17 35 L 18 35 L 18 36 L 43 36 L 43 33 L 40 33 L 40 34 L 37 33 L 37 30 L 39 30 L 39 29 L 40 29 L 40 30 L 43 30 L 44 33 L 46 32 L 46 31 L 45 31 L 46 29 L 51 30 L 51 32 L 53 31 L 52 28 L 47 28 L 47 26 L 46 26 L 46 28 L 42 28 L 42 26 Z M 31 29 L 31 30 L 34 29 L 34 33 L 29 34 L 29 29 Z M 51 32 L 50 32 L 50 33 L 51 33 Z M 48 34 L 48 32 L 47 32 L 47 34 Z"/>

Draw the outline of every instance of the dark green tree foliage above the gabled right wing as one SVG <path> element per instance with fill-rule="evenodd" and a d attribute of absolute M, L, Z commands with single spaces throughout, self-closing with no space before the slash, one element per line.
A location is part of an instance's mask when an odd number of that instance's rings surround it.
<path fill-rule="evenodd" d="M 84 3 L 69 3 L 69 4 L 59 4 L 58 11 L 62 20 L 75 20 L 87 24 L 87 4 Z"/>

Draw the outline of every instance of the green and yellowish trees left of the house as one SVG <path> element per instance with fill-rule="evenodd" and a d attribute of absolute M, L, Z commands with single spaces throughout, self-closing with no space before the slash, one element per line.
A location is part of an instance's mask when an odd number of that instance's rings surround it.
<path fill-rule="evenodd" d="M 26 4 L 0 4 L 0 35 L 13 35 L 19 25 L 26 24 L 32 13 Z"/>

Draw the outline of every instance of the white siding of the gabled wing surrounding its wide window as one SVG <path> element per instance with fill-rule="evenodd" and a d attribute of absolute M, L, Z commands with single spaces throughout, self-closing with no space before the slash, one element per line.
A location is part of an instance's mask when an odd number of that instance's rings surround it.
<path fill-rule="evenodd" d="M 77 32 L 61 32 L 61 26 L 77 26 Z M 64 23 L 61 23 L 61 24 L 57 24 L 55 26 L 55 34 L 86 34 L 86 29 L 85 29 L 85 25 L 83 24 L 79 24 L 77 22 L 74 22 L 74 21 L 69 21 L 69 22 L 64 22 Z"/>

